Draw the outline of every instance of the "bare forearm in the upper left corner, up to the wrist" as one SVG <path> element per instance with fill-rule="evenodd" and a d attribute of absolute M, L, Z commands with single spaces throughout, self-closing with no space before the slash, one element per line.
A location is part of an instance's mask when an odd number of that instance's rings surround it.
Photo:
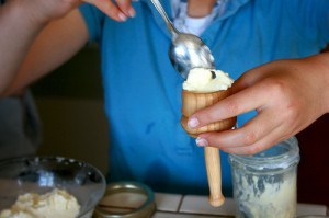
<path fill-rule="evenodd" d="M 34 38 L 45 23 L 35 22 L 29 1 L 11 0 L 0 8 L 0 92 L 15 77 Z"/>

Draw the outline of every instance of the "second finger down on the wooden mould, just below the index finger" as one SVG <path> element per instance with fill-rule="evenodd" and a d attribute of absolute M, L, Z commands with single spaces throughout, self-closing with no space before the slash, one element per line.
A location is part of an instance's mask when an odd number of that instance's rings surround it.
<path fill-rule="evenodd" d="M 262 112 L 250 119 L 241 128 L 222 133 L 206 133 L 198 136 L 197 142 L 218 147 L 246 147 L 260 141 L 281 125 L 271 112 Z M 201 145 L 201 146 L 205 146 Z"/>

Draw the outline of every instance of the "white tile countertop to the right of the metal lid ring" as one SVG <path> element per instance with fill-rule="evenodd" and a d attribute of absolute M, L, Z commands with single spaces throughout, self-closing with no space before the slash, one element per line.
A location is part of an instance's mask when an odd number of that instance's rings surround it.
<path fill-rule="evenodd" d="M 156 193 L 157 211 L 152 218 L 214 218 L 234 217 L 235 203 L 226 198 L 223 206 L 215 208 L 207 196 Z M 298 204 L 297 216 L 327 215 L 325 205 Z"/>

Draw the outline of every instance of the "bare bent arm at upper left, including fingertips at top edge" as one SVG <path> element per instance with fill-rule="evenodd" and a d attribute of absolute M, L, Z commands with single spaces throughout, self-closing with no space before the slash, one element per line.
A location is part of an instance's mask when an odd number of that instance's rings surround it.
<path fill-rule="evenodd" d="M 0 7 L 1 96 L 49 72 L 86 44 L 88 32 L 83 19 L 78 10 L 72 11 L 79 2 L 9 0 Z M 117 21 L 126 19 L 123 13 L 134 15 L 131 0 L 117 4 L 111 0 L 92 3 Z"/>

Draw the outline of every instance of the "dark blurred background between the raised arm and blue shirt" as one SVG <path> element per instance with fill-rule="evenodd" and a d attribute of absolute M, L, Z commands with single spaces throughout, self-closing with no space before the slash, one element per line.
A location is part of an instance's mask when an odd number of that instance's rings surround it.
<path fill-rule="evenodd" d="M 32 85 L 43 125 L 38 154 L 87 161 L 107 171 L 107 119 L 95 45 Z"/>

